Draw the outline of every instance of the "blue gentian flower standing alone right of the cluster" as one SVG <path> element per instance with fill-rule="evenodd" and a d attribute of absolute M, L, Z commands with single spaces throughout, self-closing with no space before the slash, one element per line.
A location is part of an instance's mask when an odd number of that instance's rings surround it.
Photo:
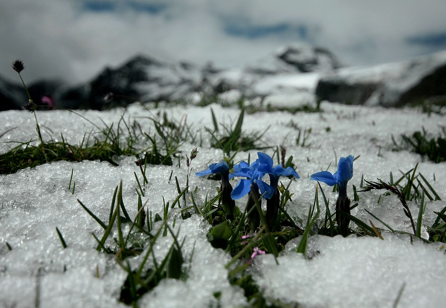
<path fill-rule="evenodd" d="M 348 235 L 348 226 L 350 218 L 342 215 L 341 212 L 350 214 L 350 199 L 347 197 L 347 182 L 353 177 L 353 155 L 339 158 L 338 171 L 331 174 L 328 171 L 316 172 L 310 176 L 310 180 L 324 182 L 333 186 L 338 184 L 339 195 L 336 200 L 336 221 L 339 226 L 339 233 L 343 236 Z"/>

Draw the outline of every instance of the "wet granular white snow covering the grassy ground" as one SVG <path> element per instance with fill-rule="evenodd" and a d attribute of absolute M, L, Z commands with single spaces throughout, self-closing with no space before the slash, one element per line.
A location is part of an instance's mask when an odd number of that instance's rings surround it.
<path fill-rule="evenodd" d="M 219 122 L 230 124 L 236 120 L 239 111 L 235 108 L 221 108 L 213 104 L 208 107 L 161 107 L 142 108 L 134 104 L 124 109 L 108 112 L 78 111 L 83 117 L 103 128 L 116 124 L 124 113 L 128 123 L 134 120 L 145 132 L 155 132 L 150 116 L 167 112 L 167 116 L 180 120 L 187 115 L 191 132 L 202 130 L 202 147 L 199 140 L 191 144 L 186 140 L 180 145 L 184 153 L 190 153 L 198 146 L 198 156 L 193 161 L 193 173 L 205 169 L 208 164 L 223 158 L 221 150 L 209 147 L 209 135 L 204 127 L 213 127 L 213 108 Z M 297 173 L 290 190 L 293 201 L 288 212 L 303 226 L 306 213 L 314 200 L 315 185 L 309 175 L 321 170 L 334 172 L 340 156 L 352 154 L 360 157 L 354 163 L 354 176 L 349 182 L 359 187 L 361 176 L 366 180 L 376 178 L 389 180 L 389 172 L 397 178 L 398 170 L 408 171 L 417 162 L 421 172 L 442 199 L 446 200 L 446 164 L 434 164 L 423 160 L 418 154 L 408 151 L 392 152 L 391 135 L 412 134 L 421 127 L 434 136 L 444 125 L 445 118 L 432 114 L 428 116 L 414 109 L 384 109 L 362 106 L 343 106 L 322 103 L 320 113 L 258 112 L 245 115 L 243 129 L 263 132 L 267 145 L 284 144 L 287 156 L 293 155 Z M 42 136 L 46 140 L 60 139 L 62 133 L 67 142 L 75 144 L 90 132 L 97 132 L 89 121 L 67 111 L 37 112 Z M 184 118 L 183 118 L 184 119 Z M 293 121 L 302 130 L 312 128 L 307 141 L 309 147 L 296 145 L 297 130 L 286 124 Z M 37 139 L 33 114 L 26 111 L 0 112 L 0 152 L 6 152 L 16 144 L 6 141 L 26 142 Z M 328 129 L 330 128 L 330 129 Z M 99 135 L 98 135 L 99 136 Z M 143 145 L 141 145 L 141 148 Z M 270 155 L 273 150 L 266 150 Z M 256 151 L 251 151 L 252 159 Z M 247 152 L 235 157 L 246 160 Z M 76 181 L 74 195 L 68 189 L 71 169 Z M 91 235 L 102 236 L 103 229 L 78 204 L 77 199 L 97 216 L 107 221 L 111 198 L 116 185 L 123 181 L 123 198 L 130 217 L 136 215 L 137 183 L 133 172 L 140 176 L 134 157 L 120 157 L 119 166 L 107 162 L 54 162 L 15 174 L 0 176 L 0 307 L 34 307 L 36 297 L 40 307 L 125 307 L 118 301 L 120 287 L 126 273 L 117 264 L 113 255 L 96 251 L 96 241 Z M 162 196 L 172 202 L 177 196 L 175 181 L 169 175 L 177 176 L 180 185 L 186 185 L 185 158 L 181 166 L 149 165 L 146 175 L 145 197 L 150 211 L 162 216 Z M 435 180 L 434 180 L 435 174 Z M 234 184 L 235 185 L 235 182 Z M 206 192 L 215 194 L 219 184 L 205 178 L 190 179 L 190 187 L 198 190 L 195 200 L 203 202 Z M 335 193 L 322 184 L 325 194 L 330 197 L 334 208 Z M 395 196 L 382 196 L 377 203 L 379 192 L 359 193 L 359 205 L 352 214 L 363 221 L 372 219 L 378 228 L 384 228 L 364 211 L 367 208 L 392 228 L 411 231 L 400 202 Z M 321 200 L 322 202 L 322 200 Z M 427 200 L 423 218 L 423 237 L 428 237 L 426 227 L 432 225 L 433 211 L 441 210 L 445 201 Z M 245 199 L 237 203 L 244 207 Z M 409 202 L 413 216 L 418 205 Z M 321 209 L 321 217 L 324 209 Z M 176 218 L 175 232 L 179 231 L 180 242 L 185 238 L 182 253 L 188 278 L 186 280 L 162 280 L 151 292 L 139 301 L 140 307 L 240 307 L 247 303 L 244 292 L 231 286 L 227 280 L 225 264 L 231 257 L 221 249 L 211 247 L 206 240 L 209 225 L 198 215 L 182 220 L 178 208 L 169 212 L 169 224 Z M 55 228 L 62 232 L 68 247 L 62 248 Z M 159 223 L 154 225 L 155 230 Z M 351 224 L 354 228 L 355 225 Z M 128 226 L 127 226 L 128 228 Z M 116 228 L 114 229 L 116 236 Z M 249 271 L 256 283 L 271 299 L 287 303 L 298 302 L 303 307 L 392 307 L 401 288 L 402 296 L 398 307 L 441 307 L 444 305 L 446 285 L 446 255 L 442 244 L 424 244 L 410 236 L 383 233 L 384 240 L 376 237 L 312 236 L 309 240 L 306 258 L 293 251 L 298 240 L 292 240 L 285 252 L 278 257 L 277 265 L 271 255 L 257 256 Z M 155 246 L 158 260 L 168 252 L 172 237 L 161 237 Z M 9 250 L 8 243 L 12 250 Z M 112 245 L 112 241 L 110 242 Z M 190 256 L 194 249 L 191 261 Z M 135 268 L 140 257 L 132 258 Z M 99 277 L 97 277 L 99 273 Z M 221 292 L 219 303 L 213 295 Z"/>

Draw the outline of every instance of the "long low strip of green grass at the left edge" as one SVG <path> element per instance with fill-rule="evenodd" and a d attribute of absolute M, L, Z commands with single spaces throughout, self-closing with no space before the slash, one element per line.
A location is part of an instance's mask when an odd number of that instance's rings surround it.
<path fill-rule="evenodd" d="M 76 112 L 73 113 L 77 114 Z M 153 121 L 160 132 L 159 135 L 150 136 L 148 133 L 143 133 L 140 124 L 135 121 L 132 125 L 129 125 L 124 120 L 124 116 L 121 116 L 116 129 L 114 129 L 115 125 L 113 123 L 110 126 L 105 125 L 105 128 L 99 128 L 90 121 L 98 128 L 99 136 L 98 133 L 90 132 L 79 144 L 69 144 L 63 135 L 61 135 L 60 141 L 51 138 L 50 141 L 40 141 L 37 145 L 34 145 L 36 140 L 17 142 L 16 147 L 0 154 L 0 174 L 15 173 L 20 169 L 33 168 L 58 160 L 100 160 L 117 166 L 117 158 L 122 155 L 135 156 L 146 164 L 171 166 L 173 157 L 180 153 L 177 150 L 179 146 L 177 140 L 180 137 L 163 132 L 161 122 L 157 119 L 153 119 Z M 139 128 L 139 131 L 137 128 Z M 180 130 L 180 128 L 177 128 L 177 130 Z M 185 128 L 181 128 L 181 131 L 184 130 Z M 161 139 L 162 141 L 161 146 L 160 141 L 157 141 L 157 136 L 158 140 Z M 139 150 L 137 144 L 141 143 L 148 145 L 148 147 Z M 136 161 L 136 164 L 139 164 L 139 162 Z"/>

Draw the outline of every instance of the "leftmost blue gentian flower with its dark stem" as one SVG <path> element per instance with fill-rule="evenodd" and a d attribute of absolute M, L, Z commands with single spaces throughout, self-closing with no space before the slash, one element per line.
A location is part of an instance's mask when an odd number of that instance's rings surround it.
<path fill-rule="evenodd" d="M 222 160 L 219 163 L 210 164 L 209 168 L 195 173 L 195 176 L 207 176 L 214 173 L 220 173 L 222 177 L 220 190 L 222 192 L 221 204 L 223 206 L 223 212 L 226 213 L 228 219 L 233 219 L 235 201 L 231 198 L 232 185 L 229 183 L 229 166 L 226 161 Z"/>

